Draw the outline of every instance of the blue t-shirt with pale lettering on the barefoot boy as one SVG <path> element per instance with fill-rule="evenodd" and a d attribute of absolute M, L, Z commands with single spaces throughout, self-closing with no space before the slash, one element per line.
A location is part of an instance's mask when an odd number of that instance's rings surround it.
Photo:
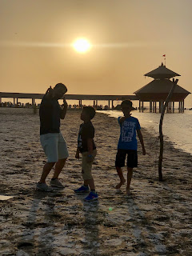
<path fill-rule="evenodd" d="M 141 126 L 138 122 L 138 118 L 130 117 L 126 118 L 124 122 L 118 123 L 121 129 L 121 134 L 118 140 L 118 149 L 121 150 L 137 150 L 138 141 L 136 138 L 136 130 L 140 130 Z"/>

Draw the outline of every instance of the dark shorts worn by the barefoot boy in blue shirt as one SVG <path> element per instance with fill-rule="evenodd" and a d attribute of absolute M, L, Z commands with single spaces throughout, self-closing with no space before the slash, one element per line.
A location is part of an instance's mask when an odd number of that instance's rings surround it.
<path fill-rule="evenodd" d="M 116 155 L 115 166 L 123 167 L 125 166 L 127 154 L 126 166 L 129 168 L 138 167 L 138 151 L 137 150 L 119 150 Z"/>

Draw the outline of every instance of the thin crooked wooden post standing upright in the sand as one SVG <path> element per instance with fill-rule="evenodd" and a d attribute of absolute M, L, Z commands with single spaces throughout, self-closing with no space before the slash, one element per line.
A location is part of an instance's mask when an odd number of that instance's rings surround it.
<path fill-rule="evenodd" d="M 174 87 L 177 85 L 177 83 L 178 83 L 178 79 L 176 79 L 174 81 L 174 78 L 173 78 L 173 86 L 170 89 L 170 93 L 168 94 L 168 96 L 166 98 L 166 102 L 162 108 L 162 114 L 161 114 L 161 118 L 160 118 L 160 122 L 159 122 L 159 139 L 160 139 L 160 154 L 159 154 L 159 158 L 158 158 L 158 180 L 159 180 L 159 182 L 162 182 L 162 154 L 163 154 L 162 121 L 163 121 L 163 117 L 164 117 L 164 114 L 166 111 L 166 106 L 167 106 L 168 102 L 170 101 L 172 94 L 174 93 Z"/>

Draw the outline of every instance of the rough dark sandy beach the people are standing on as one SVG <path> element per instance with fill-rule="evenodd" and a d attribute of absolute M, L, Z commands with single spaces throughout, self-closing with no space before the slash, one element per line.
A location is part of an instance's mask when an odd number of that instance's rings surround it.
<path fill-rule="evenodd" d="M 46 193 L 35 190 L 46 161 L 38 113 L 0 108 L 0 194 L 14 196 L 0 200 L 0 255 L 190 256 L 192 155 L 165 142 L 164 180 L 158 182 L 157 138 L 142 129 L 146 156 L 138 143 L 133 194 L 127 197 L 126 186 L 114 189 L 117 119 L 97 113 L 93 175 L 99 200 L 84 202 L 85 195 L 74 194 L 82 184 L 81 161 L 74 158 L 79 117 L 79 110 L 68 110 L 61 125 L 70 153 L 60 175 L 65 188 Z"/>

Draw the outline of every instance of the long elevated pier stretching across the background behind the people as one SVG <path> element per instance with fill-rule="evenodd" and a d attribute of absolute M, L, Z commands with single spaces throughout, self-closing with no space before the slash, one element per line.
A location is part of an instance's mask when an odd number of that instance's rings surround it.
<path fill-rule="evenodd" d="M 26 93 L 6 93 L 0 92 L 0 103 L 2 103 L 2 98 L 13 98 L 14 105 L 18 105 L 19 98 L 30 98 L 31 104 L 35 105 L 35 99 L 42 99 L 45 94 L 26 94 Z M 79 106 L 82 105 L 82 100 L 93 100 L 94 105 L 98 105 L 98 101 L 108 101 L 109 108 L 110 102 L 111 106 L 114 106 L 114 101 L 122 101 L 125 99 L 130 99 L 131 101 L 139 100 L 136 95 L 94 95 L 94 94 L 66 94 L 66 99 L 78 100 Z"/>

